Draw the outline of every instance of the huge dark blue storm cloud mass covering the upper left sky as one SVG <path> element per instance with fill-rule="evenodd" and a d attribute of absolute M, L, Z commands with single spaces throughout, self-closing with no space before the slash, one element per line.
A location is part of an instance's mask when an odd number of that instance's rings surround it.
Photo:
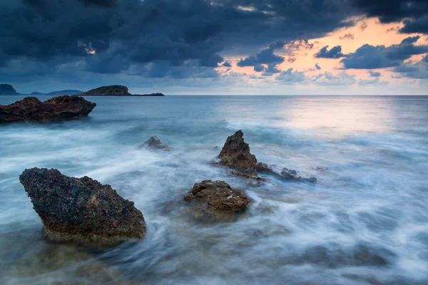
<path fill-rule="evenodd" d="M 231 49 L 242 54 L 279 40 L 314 38 L 351 26 L 352 21 L 344 21 L 352 13 L 343 2 L 3 0 L 0 64 L 68 57 L 69 62 L 83 59 L 95 73 L 124 72 L 155 61 L 170 67 L 192 61 L 212 69 Z M 304 43 L 309 45 L 299 44 Z"/>

